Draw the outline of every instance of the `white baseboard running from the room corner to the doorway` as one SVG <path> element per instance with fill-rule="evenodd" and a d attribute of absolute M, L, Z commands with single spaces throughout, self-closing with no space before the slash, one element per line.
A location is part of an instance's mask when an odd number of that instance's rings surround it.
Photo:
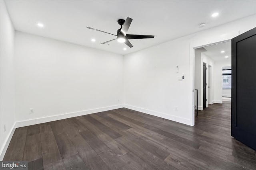
<path fill-rule="evenodd" d="M 154 115 L 154 116 L 157 116 L 157 117 L 162 117 L 164 119 L 168 119 L 168 120 L 172 120 L 172 121 L 176 121 L 176 122 L 179 122 L 179 123 L 183 123 L 183 124 L 192 126 L 192 123 L 190 122 L 190 119 L 184 119 L 182 117 L 178 117 L 178 116 L 174 116 L 174 115 L 168 115 L 166 113 L 160 113 L 160 112 L 157 112 L 157 111 L 143 109 L 143 108 L 140 108 L 140 107 L 130 106 L 130 105 L 126 105 L 126 104 L 124 104 L 124 107 L 127 108 L 127 109 L 140 111 L 142 113 L 146 113 L 146 114 L 149 114 L 149 115 Z"/>

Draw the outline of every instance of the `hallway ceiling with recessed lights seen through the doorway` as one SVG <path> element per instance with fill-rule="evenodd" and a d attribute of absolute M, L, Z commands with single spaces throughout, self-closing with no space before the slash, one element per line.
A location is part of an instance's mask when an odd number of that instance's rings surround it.
<path fill-rule="evenodd" d="M 202 52 L 214 61 L 229 60 L 231 62 L 231 41 L 218 43 L 204 47 L 207 51 Z M 221 51 L 225 51 L 221 53 Z M 228 58 L 225 58 L 228 56 Z"/>

